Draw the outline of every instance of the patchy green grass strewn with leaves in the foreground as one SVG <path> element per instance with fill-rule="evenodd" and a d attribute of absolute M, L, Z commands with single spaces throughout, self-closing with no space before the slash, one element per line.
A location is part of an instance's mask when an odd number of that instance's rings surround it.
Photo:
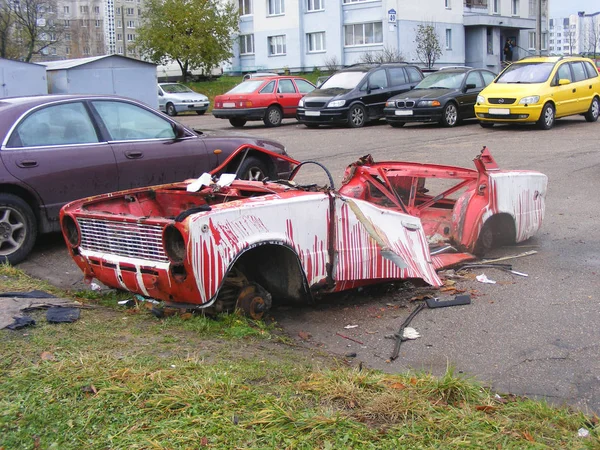
<path fill-rule="evenodd" d="M 45 289 L 0 267 L 3 289 Z M 66 295 L 58 290 L 56 295 Z M 0 448 L 598 448 L 596 417 L 445 376 L 347 367 L 237 315 L 156 319 L 112 295 L 0 331 Z M 580 438 L 580 428 L 590 436 Z"/>

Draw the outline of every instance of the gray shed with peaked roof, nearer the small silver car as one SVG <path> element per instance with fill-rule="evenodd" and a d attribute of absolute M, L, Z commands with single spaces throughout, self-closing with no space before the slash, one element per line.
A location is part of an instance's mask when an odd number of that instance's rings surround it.
<path fill-rule="evenodd" d="M 41 63 L 50 94 L 115 94 L 158 108 L 156 65 L 120 55 Z"/>

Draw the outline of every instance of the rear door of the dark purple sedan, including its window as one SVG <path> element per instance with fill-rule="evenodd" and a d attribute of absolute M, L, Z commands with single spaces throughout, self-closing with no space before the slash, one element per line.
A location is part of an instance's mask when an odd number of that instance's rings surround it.
<path fill-rule="evenodd" d="M 82 101 L 33 110 L 0 155 L 7 170 L 37 192 L 49 220 L 67 202 L 118 188 L 112 148 Z"/>

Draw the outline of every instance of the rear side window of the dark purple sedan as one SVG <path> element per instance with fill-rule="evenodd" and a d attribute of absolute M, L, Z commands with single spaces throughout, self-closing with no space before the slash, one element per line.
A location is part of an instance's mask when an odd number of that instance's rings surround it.
<path fill-rule="evenodd" d="M 7 147 L 90 144 L 99 142 L 94 124 L 81 102 L 39 109 L 13 131 Z"/>

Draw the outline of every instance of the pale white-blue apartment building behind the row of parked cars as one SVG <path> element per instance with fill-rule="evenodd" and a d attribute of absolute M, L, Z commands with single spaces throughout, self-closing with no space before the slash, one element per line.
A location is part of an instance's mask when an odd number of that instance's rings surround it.
<path fill-rule="evenodd" d="M 535 47 L 536 7 L 546 0 L 233 0 L 240 14 L 234 56 L 225 71 L 312 70 L 358 62 L 366 52 L 399 52 L 419 62 L 419 24 L 435 26 L 442 49 L 436 66 L 469 65 L 498 72 L 507 38 L 513 60 Z M 545 48 L 545 45 L 543 46 Z"/>

